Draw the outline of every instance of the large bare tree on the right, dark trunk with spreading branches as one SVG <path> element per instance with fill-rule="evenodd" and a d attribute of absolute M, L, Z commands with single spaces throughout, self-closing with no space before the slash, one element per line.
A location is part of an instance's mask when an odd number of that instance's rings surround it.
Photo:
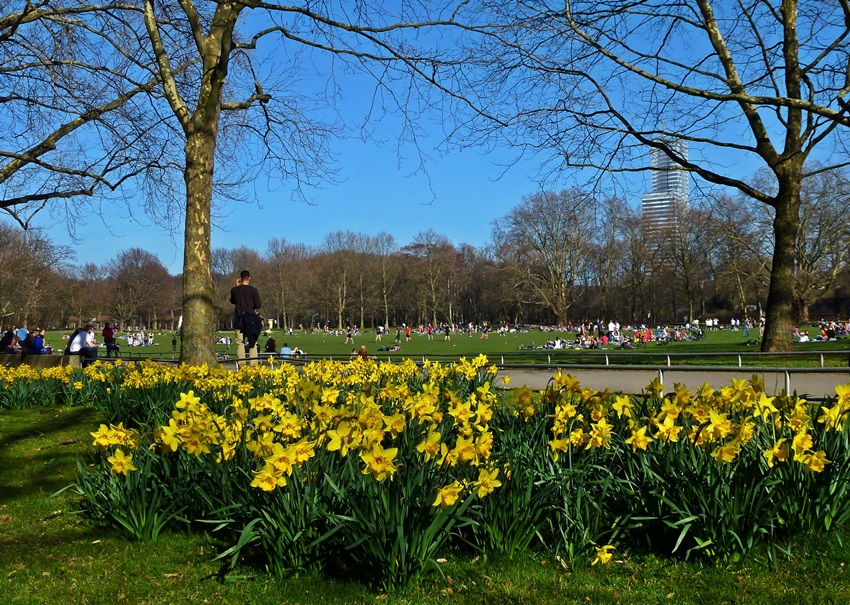
<path fill-rule="evenodd" d="M 480 6 L 488 37 L 470 70 L 487 65 L 464 86 L 492 94 L 479 102 L 497 118 L 494 131 L 567 167 L 637 171 L 647 148 L 660 149 L 704 181 L 773 209 L 762 349 L 790 348 L 801 188 L 848 162 L 850 2 Z M 689 157 L 671 141 L 686 141 Z M 828 166 L 809 169 L 809 159 Z M 731 168 L 753 161 L 769 171 L 770 188 Z"/>

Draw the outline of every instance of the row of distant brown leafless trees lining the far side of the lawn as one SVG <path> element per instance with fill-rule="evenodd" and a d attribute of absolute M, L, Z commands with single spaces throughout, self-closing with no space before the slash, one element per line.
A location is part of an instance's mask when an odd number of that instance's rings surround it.
<path fill-rule="evenodd" d="M 850 314 L 848 182 L 828 172 L 803 191 L 793 291 L 801 323 L 813 304 L 832 298 L 844 303 L 822 312 Z M 215 250 L 216 326 L 232 326 L 229 293 L 243 268 L 260 288 L 265 316 L 284 328 L 754 317 L 770 283 L 773 217 L 765 208 L 703 199 L 660 232 L 623 200 L 571 189 L 527 196 L 493 222 L 492 242 L 480 249 L 429 230 L 404 245 L 388 233 L 339 231 L 315 248 L 274 239 L 264 251 Z M 132 249 L 103 267 L 62 267 L 67 251 L 37 233 L 0 231 L 7 317 L 176 326 L 181 280 L 155 255 Z M 12 267 L 29 277 L 18 279 Z"/>

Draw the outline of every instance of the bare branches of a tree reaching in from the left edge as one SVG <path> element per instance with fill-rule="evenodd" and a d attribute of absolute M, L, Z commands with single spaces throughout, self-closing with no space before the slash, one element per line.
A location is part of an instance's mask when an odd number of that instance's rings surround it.
<path fill-rule="evenodd" d="M 119 48 L 120 33 L 99 19 L 116 6 L 10 0 L 0 8 L 0 209 L 24 228 L 49 206 L 75 235 L 87 201 L 115 198 L 131 180 L 139 186 L 128 209 L 147 195 L 157 222 L 174 223 L 170 189 L 151 196 L 173 158 L 139 103 L 159 79 L 139 70 L 139 52 Z"/>

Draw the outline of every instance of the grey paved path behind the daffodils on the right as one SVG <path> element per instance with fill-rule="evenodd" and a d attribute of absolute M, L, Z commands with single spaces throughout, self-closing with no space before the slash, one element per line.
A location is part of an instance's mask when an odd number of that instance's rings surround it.
<path fill-rule="evenodd" d="M 823 399 L 835 396 L 835 386 L 850 383 L 850 368 L 834 368 L 829 370 L 792 369 L 785 371 L 762 368 L 657 368 L 633 367 L 628 369 L 563 369 L 566 374 L 575 376 L 583 386 L 592 389 L 609 389 L 613 392 L 640 393 L 653 378 L 660 377 L 664 384 L 664 392 L 670 392 L 675 383 L 683 383 L 691 392 L 708 382 L 714 388 L 720 388 L 732 383 L 733 378 L 749 379 L 757 373 L 764 379 L 765 390 L 771 394 L 779 394 L 786 387 L 789 392 L 797 392 L 805 399 Z M 503 386 L 500 380 L 503 376 L 510 377 L 510 388 L 523 385 L 530 389 L 546 388 L 549 379 L 558 372 L 558 368 L 503 368 L 497 375 L 494 386 Z"/>

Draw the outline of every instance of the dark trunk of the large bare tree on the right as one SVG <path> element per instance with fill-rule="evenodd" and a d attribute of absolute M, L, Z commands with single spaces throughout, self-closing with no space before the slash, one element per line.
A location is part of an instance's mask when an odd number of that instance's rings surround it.
<path fill-rule="evenodd" d="M 776 196 L 776 217 L 773 221 L 773 266 L 770 270 L 770 290 L 767 295 L 767 316 L 761 350 L 791 351 L 791 318 L 794 313 L 794 261 L 797 230 L 800 227 L 800 171 L 784 175 L 779 180 Z"/>

